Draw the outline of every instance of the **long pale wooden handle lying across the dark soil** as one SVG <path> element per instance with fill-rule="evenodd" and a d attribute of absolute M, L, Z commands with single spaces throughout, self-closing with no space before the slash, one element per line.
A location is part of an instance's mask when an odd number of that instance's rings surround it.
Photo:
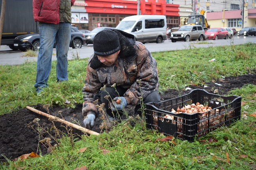
<path fill-rule="evenodd" d="M 33 112 L 35 112 L 35 113 L 37 113 L 37 114 L 39 114 L 39 115 L 46 116 L 48 118 L 53 119 L 54 121 L 64 123 L 64 124 L 69 125 L 69 126 L 75 128 L 75 129 L 78 129 L 80 131 L 83 131 L 83 132 L 86 132 L 86 133 L 89 133 L 89 134 L 93 134 L 93 135 L 99 135 L 99 133 L 97 133 L 97 132 L 91 131 L 91 130 L 86 129 L 86 128 L 82 127 L 82 126 L 79 126 L 79 125 L 76 125 L 74 123 L 68 122 L 66 120 L 60 119 L 60 118 L 58 118 L 56 116 L 49 115 L 47 113 L 44 113 L 44 112 L 39 111 L 37 109 L 34 109 L 32 107 L 26 106 L 26 108 L 31 110 L 31 111 L 33 111 Z"/>

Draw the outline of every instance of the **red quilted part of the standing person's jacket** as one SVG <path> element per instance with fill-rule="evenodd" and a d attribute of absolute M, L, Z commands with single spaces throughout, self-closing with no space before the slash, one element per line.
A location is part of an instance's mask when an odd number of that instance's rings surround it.
<path fill-rule="evenodd" d="M 71 0 L 71 6 L 75 0 Z M 35 21 L 59 24 L 60 0 L 33 0 L 33 15 Z"/>

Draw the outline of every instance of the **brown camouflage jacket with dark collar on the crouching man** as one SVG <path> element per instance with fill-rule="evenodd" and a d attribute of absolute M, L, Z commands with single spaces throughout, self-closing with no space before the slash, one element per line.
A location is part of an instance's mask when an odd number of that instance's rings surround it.
<path fill-rule="evenodd" d="M 127 88 L 124 97 L 132 105 L 138 104 L 138 97 L 145 98 L 153 91 L 158 91 L 157 63 L 148 49 L 135 41 L 132 34 L 115 29 L 113 31 L 119 36 L 119 56 L 112 66 L 106 66 L 99 61 L 97 55 L 91 55 L 82 89 L 84 103 L 93 102 L 94 95 L 104 85 L 116 84 Z"/>

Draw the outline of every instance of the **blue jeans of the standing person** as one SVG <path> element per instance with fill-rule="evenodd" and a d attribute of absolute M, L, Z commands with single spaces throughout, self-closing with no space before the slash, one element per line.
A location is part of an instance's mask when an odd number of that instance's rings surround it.
<path fill-rule="evenodd" d="M 51 57 L 55 43 L 57 64 L 57 81 L 68 80 L 68 49 L 71 40 L 70 23 L 39 23 L 40 48 L 37 59 L 37 77 L 35 88 L 37 93 L 48 87 L 48 78 L 51 72 Z"/>

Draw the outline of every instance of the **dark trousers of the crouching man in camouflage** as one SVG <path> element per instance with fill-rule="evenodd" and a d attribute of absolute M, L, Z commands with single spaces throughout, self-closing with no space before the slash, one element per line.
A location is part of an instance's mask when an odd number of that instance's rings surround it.
<path fill-rule="evenodd" d="M 115 89 L 116 88 L 116 89 Z M 108 115 L 110 115 L 111 117 L 115 117 L 118 118 L 119 115 L 122 115 L 122 111 L 113 111 L 112 113 L 112 109 L 110 108 L 110 102 L 112 102 L 112 99 L 115 97 L 123 97 L 124 93 L 128 90 L 126 88 L 122 88 L 121 86 L 116 86 L 115 88 L 112 87 L 106 87 L 105 90 L 101 90 L 99 91 L 99 100 L 101 100 L 99 103 L 105 103 L 105 108 L 106 108 L 106 112 Z M 118 92 L 118 93 L 117 93 Z M 108 99 L 104 98 L 105 96 L 110 95 L 110 97 L 108 97 Z M 95 98 L 96 99 L 96 98 Z M 95 100 L 93 99 L 93 101 Z M 155 102 L 155 103 L 159 103 L 161 102 L 160 100 L 160 96 L 157 93 L 157 91 L 153 91 L 152 93 L 150 93 L 147 97 L 143 98 L 143 102 L 144 103 L 149 103 L 149 102 Z M 135 107 L 135 112 L 139 115 L 141 115 L 141 111 L 139 111 L 139 109 L 141 108 L 141 104 L 137 104 L 137 106 Z M 119 114 L 119 115 L 118 115 Z"/>

